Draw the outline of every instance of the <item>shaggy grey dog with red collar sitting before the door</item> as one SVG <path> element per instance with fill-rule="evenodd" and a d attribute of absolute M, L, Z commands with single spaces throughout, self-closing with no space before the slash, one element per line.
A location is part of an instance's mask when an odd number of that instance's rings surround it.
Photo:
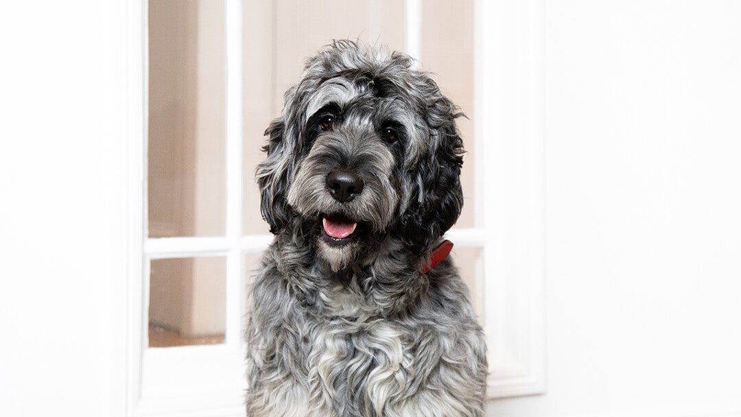
<path fill-rule="evenodd" d="M 307 61 L 257 168 L 275 240 L 247 325 L 247 416 L 482 416 L 468 289 L 431 253 L 458 218 L 457 107 L 413 59 Z M 431 269 L 429 269 L 431 267 Z"/>

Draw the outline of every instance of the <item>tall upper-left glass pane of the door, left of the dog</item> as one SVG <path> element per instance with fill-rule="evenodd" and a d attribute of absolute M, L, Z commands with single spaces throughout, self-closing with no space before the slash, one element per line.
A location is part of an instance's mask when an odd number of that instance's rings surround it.
<path fill-rule="evenodd" d="M 223 0 L 149 1 L 149 236 L 225 234 Z"/>

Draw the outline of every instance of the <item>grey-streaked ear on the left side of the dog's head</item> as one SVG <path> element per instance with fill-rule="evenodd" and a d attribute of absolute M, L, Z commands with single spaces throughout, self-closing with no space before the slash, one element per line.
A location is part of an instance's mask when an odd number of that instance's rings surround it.
<path fill-rule="evenodd" d="M 293 176 L 293 142 L 287 137 L 283 117 L 273 120 L 265 130 L 268 144 L 262 147 L 267 157 L 256 170 L 260 187 L 260 210 L 262 218 L 270 224 L 270 233 L 277 234 L 290 221 L 291 210 L 286 200 L 288 181 Z"/>

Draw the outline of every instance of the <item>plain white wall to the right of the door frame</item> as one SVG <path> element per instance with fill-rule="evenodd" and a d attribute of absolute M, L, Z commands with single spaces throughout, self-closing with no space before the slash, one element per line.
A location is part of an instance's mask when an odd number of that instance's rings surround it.
<path fill-rule="evenodd" d="M 488 416 L 741 416 L 741 2 L 546 10 L 548 393 Z"/>

